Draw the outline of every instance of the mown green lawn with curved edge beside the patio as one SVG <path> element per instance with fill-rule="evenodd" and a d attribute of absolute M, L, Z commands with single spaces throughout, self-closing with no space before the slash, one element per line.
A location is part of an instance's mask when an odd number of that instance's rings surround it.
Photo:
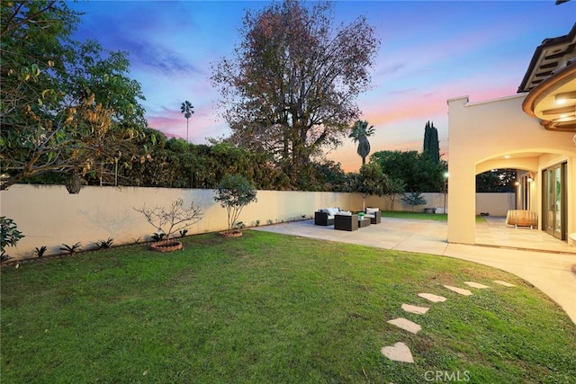
<path fill-rule="evenodd" d="M 2 268 L 2 383 L 413 383 L 427 371 L 459 371 L 475 383 L 576 377 L 576 326 L 506 272 L 249 230 L 186 237 L 184 247 Z M 464 297 L 442 287 L 463 281 L 491 289 Z M 428 303 L 419 292 L 447 300 Z M 412 315 L 404 302 L 431 309 Z M 395 317 L 422 331 L 386 323 Z M 380 353 L 399 341 L 415 364 Z"/>

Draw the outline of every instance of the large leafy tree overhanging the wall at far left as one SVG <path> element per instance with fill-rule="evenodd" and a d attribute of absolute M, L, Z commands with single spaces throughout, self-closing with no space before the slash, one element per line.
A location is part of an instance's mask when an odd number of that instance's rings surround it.
<path fill-rule="evenodd" d="M 126 54 L 71 40 L 80 14 L 64 1 L 5 2 L 0 12 L 0 190 L 111 165 L 146 124 Z"/>

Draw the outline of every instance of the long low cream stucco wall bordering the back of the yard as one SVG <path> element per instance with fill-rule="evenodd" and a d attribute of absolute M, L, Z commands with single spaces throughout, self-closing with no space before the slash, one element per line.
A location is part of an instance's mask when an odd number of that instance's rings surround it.
<path fill-rule="evenodd" d="M 134 210 L 147 207 L 168 206 L 178 198 L 184 205 L 202 207 L 204 217 L 188 228 L 188 235 L 216 232 L 227 228 L 226 210 L 213 201 L 213 190 L 98 187 L 85 186 L 79 194 L 68 194 L 60 185 L 16 184 L 0 193 L 0 215 L 14 219 L 25 237 L 16 247 L 7 249 L 14 259 L 33 257 L 35 247 L 47 246 L 46 255 L 58 254 L 62 244 L 82 244 L 83 249 L 95 248 L 94 242 L 113 238 L 114 245 L 148 241 L 156 231 L 144 216 Z M 443 193 L 423 193 L 428 201 L 424 208 L 444 208 Z M 491 194 L 491 207 L 479 199 L 477 210 L 491 215 L 505 216 L 510 201 L 509 194 Z M 447 201 L 447 200 L 446 200 Z M 497 201 L 500 201 L 499 203 Z M 484 204 L 484 205 L 482 205 Z M 367 207 L 390 210 L 386 197 L 366 198 Z M 314 211 L 325 207 L 362 210 L 363 201 L 358 193 L 344 192 L 284 192 L 258 191 L 257 202 L 247 205 L 239 220 L 248 227 L 271 225 L 285 221 L 313 217 Z M 496 209 L 495 207 L 500 208 Z M 412 210 L 396 198 L 394 210 Z"/>

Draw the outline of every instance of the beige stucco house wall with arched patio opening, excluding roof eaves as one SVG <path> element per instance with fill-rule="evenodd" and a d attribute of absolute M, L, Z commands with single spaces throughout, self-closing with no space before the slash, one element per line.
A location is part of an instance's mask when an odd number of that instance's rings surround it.
<path fill-rule="evenodd" d="M 576 147 L 573 133 L 545 130 L 522 111 L 526 94 L 481 103 L 468 96 L 448 103 L 448 241 L 474 244 L 475 174 L 492 168 L 519 168 L 535 175 L 531 183 L 531 210 L 538 213 L 541 227 L 542 180 L 546 166 L 568 163 L 568 233 L 576 231 Z M 515 155 L 515 158 L 504 158 Z M 525 155 L 525 156 L 523 156 Z"/>

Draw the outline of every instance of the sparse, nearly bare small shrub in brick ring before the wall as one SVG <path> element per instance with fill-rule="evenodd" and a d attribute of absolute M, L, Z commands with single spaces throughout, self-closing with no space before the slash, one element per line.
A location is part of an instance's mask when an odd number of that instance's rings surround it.
<path fill-rule="evenodd" d="M 168 208 L 154 207 L 148 208 L 146 205 L 140 208 L 134 208 L 137 212 L 144 215 L 148 223 L 157 228 L 157 234 L 166 234 L 166 245 L 169 244 L 172 235 L 192 224 L 200 221 L 204 213 L 202 209 L 194 205 L 193 201 L 190 206 L 184 208 L 184 200 L 176 199 L 172 201 Z"/>

